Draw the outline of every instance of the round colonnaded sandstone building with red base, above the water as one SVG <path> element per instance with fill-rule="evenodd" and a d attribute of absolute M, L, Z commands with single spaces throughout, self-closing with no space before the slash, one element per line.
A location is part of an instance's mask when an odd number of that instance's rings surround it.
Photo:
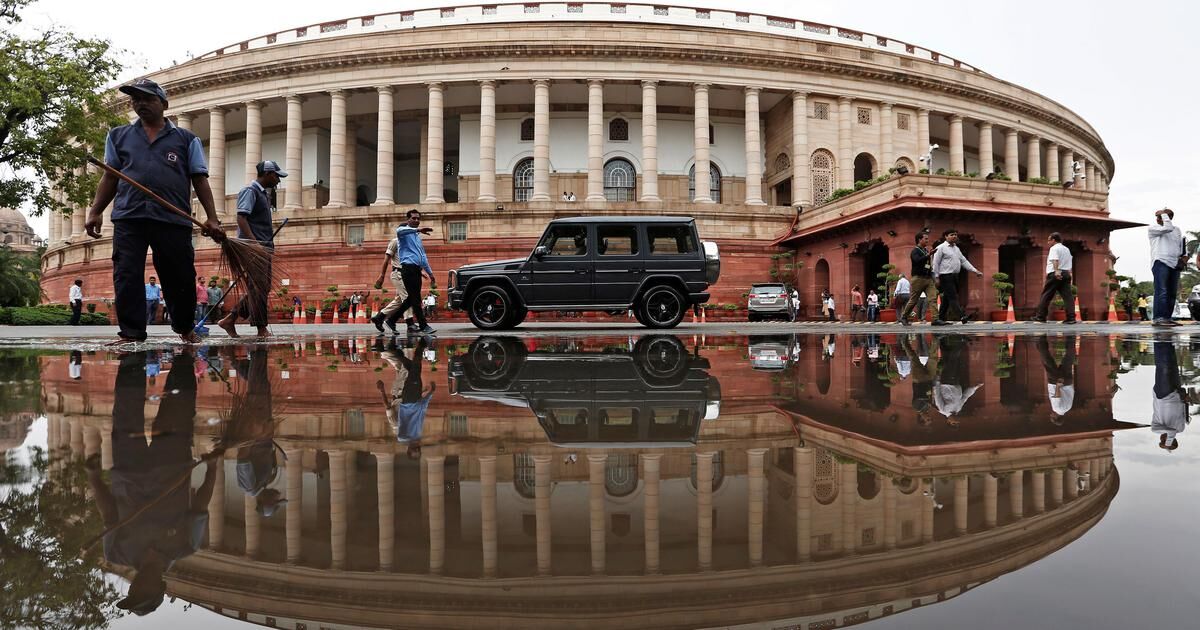
<path fill-rule="evenodd" d="M 280 256 L 305 300 L 330 284 L 367 288 L 361 247 L 382 248 L 412 206 L 434 227 L 439 272 L 526 256 L 556 216 L 691 215 L 738 262 L 713 287 L 727 304 L 766 280 L 770 244 L 791 234 L 806 264 L 780 280 L 809 292 L 805 307 L 822 288 L 840 298 L 907 260 L 928 220 L 956 223 L 988 274 L 1037 271 L 1048 221 L 1070 226 L 1080 299 L 1097 310 L 1105 238 L 1122 226 L 1108 217 L 1115 161 L 1067 107 L 917 44 L 802 19 L 476 4 L 295 25 L 152 78 L 168 113 L 204 139 L 226 223 L 256 162 L 292 172 Z M 931 143 L 942 148 L 923 163 Z M 893 167 L 908 175 L 826 204 Z M 1012 181 L 983 179 L 992 170 Z M 1057 180 L 1074 188 L 1048 185 Z M 566 192 L 578 203 L 563 203 Z M 83 212 L 50 222 L 54 299 L 77 276 L 104 286 L 92 280 L 110 271 L 110 241 L 83 232 Z M 216 250 L 199 246 L 209 275 Z M 985 287 L 968 286 L 973 302 Z"/>

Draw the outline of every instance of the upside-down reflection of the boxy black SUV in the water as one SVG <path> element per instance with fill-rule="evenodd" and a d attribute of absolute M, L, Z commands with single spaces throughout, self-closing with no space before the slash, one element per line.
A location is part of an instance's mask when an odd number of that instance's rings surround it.
<path fill-rule="evenodd" d="M 516 337 L 481 337 L 450 360 L 450 391 L 529 407 L 553 444 L 686 445 L 720 414 L 708 360 L 677 337 L 643 337 L 632 352 L 528 350 Z"/>

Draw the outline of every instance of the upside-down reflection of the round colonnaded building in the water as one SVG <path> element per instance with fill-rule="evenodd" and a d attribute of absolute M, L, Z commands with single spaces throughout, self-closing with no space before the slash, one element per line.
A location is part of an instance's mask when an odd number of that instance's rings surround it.
<path fill-rule="evenodd" d="M 377 400 L 342 389 L 365 380 L 370 365 L 329 372 L 328 355 L 272 354 L 292 378 L 325 378 L 338 401 L 330 408 Z M 752 372 L 738 350 L 702 355 L 740 400 L 702 424 L 695 448 L 611 445 L 574 463 L 575 451 L 552 445 L 526 408 L 442 397 L 420 460 L 377 431 L 377 415 L 277 408 L 287 514 L 258 517 L 227 462 L 209 550 L 175 565 L 170 592 L 281 628 L 480 617 L 550 628 L 566 616 L 581 626 L 832 628 L 934 604 L 1036 562 L 1090 529 L 1117 491 L 1111 431 L 1121 425 L 1099 410 L 1108 390 L 1079 430 L 1033 431 L 1025 442 L 1003 432 L 959 442 L 942 425 L 896 443 L 869 419 L 851 439 L 833 415 L 799 421 L 797 437 L 798 416 L 767 407 L 770 374 Z M 851 362 L 845 355 L 836 360 Z M 47 391 L 66 370 L 59 364 L 47 360 Z M 198 451 L 221 392 L 204 385 Z M 277 384 L 276 400 L 300 395 L 298 385 Z M 100 452 L 110 466 L 104 396 L 52 400 L 50 444 Z M 887 416 L 893 404 L 842 415 Z M 973 410 L 990 418 L 997 404 L 980 396 Z"/>

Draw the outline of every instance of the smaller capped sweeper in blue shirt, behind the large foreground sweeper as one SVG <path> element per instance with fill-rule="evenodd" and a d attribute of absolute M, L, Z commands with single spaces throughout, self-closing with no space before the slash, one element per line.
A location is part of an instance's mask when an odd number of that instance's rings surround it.
<path fill-rule="evenodd" d="M 238 193 L 238 238 L 258 241 L 259 245 L 275 251 L 275 234 L 271 227 L 271 212 L 275 211 L 271 204 L 271 194 L 280 185 L 280 178 L 288 176 L 288 173 L 280 168 L 280 164 L 271 160 L 259 162 L 256 167 L 258 176 Z M 254 274 L 248 280 L 246 296 L 238 306 L 229 310 L 223 319 L 217 322 L 230 337 L 238 336 L 238 318 L 244 317 L 250 320 L 250 325 L 258 329 L 259 337 L 266 337 L 266 298 L 271 292 L 271 271 L 268 266 L 263 274 Z"/>

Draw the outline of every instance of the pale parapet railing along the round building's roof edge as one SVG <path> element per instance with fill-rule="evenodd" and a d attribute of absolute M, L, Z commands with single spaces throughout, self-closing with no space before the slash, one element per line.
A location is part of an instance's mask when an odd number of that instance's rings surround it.
<path fill-rule="evenodd" d="M 979 68 L 936 50 L 875 35 L 870 32 L 832 26 L 817 22 L 708 8 L 650 5 L 634 2 L 503 2 L 494 5 L 462 5 L 413 11 L 396 11 L 360 16 L 334 22 L 307 24 L 294 29 L 262 35 L 242 42 L 202 54 L 194 59 L 212 59 L 220 55 L 253 50 L 270 46 L 306 42 L 324 37 L 360 35 L 400 29 L 426 26 L 457 26 L 468 24 L 502 24 L 512 22 L 625 22 L 680 26 L 707 26 L 750 32 L 769 32 L 803 40 L 854 46 L 869 52 L 878 50 L 932 64 L 952 66 L 968 72 L 983 73 Z M 820 50 L 818 50 L 820 52 Z"/>

